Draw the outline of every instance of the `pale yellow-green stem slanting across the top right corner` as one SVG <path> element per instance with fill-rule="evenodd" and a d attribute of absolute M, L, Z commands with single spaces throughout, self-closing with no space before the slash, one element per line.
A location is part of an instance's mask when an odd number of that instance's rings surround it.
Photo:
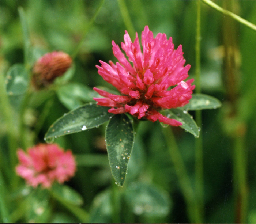
<path fill-rule="evenodd" d="M 219 7 L 219 5 L 215 4 L 212 1 L 203 1 L 203 3 L 209 5 L 211 8 L 214 8 L 215 10 L 221 12 L 224 15 L 230 16 L 231 18 L 233 18 L 234 20 L 237 20 L 239 23 L 244 24 L 245 26 L 249 27 L 252 30 L 256 30 L 255 29 L 255 25 L 253 23 L 250 23 L 249 21 L 241 18 L 240 16 L 234 14 L 233 12 L 230 12 L 228 10 L 225 10 L 222 7 Z"/>

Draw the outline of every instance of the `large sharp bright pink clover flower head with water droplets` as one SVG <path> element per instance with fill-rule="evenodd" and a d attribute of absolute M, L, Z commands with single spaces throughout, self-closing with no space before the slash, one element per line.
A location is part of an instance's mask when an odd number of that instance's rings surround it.
<path fill-rule="evenodd" d="M 138 34 L 132 43 L 127 31 L 124 35 L 124 43 L 121 47 L 125 55 L 114 41 L 113 53 L 119 60 L 116 64 L 109 61 L 109 64 L 99 61 L 101 66 L 96 65 L 99 75 L 111 83 L 121 92 L 121 95 L 110 94 L 109 92 L 94 87 L 101 96 L 105 98 L 94 98 L 101 106 L 111 107 L 108 111 L 113 114 L 129 112 L 138 119 L 146 118 L 150 121 L 163 122 L 172 126 L 182 125 L 175 119 L 170 119 L 158 111 L 182 107 L 191 99 L 191 86 L 194 81 L 188 77 L 190 65 L 185 64 L 182 46 L 174 50 L 172 38 L 166 38 L 166 34 L 158 33 L 154 38 L 152 31 L 145 26 L 141 35 L 142 49 Z M 171 89 L 170 86 L 173 86 Z M 175 87 L 174 87 L 175 86 Z"/>

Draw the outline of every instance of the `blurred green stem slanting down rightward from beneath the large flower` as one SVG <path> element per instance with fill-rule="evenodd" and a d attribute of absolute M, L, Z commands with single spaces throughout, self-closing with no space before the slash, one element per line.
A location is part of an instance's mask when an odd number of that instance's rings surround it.
<path fill-rule="evenodd" d="M 162 128 L 163 133 L 166 138 L 167 148 L 170 153 L 170 158 L 172 160 L 174 169 L 176 171 L 178 181 L 180 183 L 181 191 L 184 195 L 185 202 L 187 204 L 188 216 L 192 223 L 201 223 L 199 219 L 199 210 L 197 208 L 197 203 L 195 201 L 194 191 L 191 186 L 191 182 L 188 177 L 188 173 L 179 152 L 176 140 L 174 138 L 171 127 Z"/>

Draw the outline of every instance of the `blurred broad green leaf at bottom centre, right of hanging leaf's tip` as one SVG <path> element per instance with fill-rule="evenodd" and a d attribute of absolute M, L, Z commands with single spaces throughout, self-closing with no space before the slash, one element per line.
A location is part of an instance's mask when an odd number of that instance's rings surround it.
<path fill-rule="evenodd" d="M 136 215 L 161 217 L 167 216 L 170 211 L 168 193 L 147 183 L 130 183 L 125 191 L 125 198 Z"/>

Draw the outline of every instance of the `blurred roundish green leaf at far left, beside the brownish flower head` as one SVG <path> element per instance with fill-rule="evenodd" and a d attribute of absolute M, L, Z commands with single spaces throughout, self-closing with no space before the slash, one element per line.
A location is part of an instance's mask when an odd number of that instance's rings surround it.
<path fill-rule="evenodd" d="M 5 77 L 7 94 L 22 95 L 29 85 L 29 74 L 23 64 L 15 64 L 8 70 Z"/>

